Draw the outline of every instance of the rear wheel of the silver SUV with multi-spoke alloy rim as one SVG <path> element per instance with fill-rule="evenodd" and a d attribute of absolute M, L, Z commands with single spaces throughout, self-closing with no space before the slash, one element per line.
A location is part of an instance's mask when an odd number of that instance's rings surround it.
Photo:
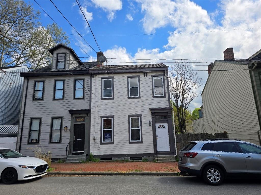
<path fill-rule="evenodd" d="M 224 179 L 222 169 L 216 165 L 209 165 L 204 168 L 203 178 L 209 185 L 220 185 Z"/>

